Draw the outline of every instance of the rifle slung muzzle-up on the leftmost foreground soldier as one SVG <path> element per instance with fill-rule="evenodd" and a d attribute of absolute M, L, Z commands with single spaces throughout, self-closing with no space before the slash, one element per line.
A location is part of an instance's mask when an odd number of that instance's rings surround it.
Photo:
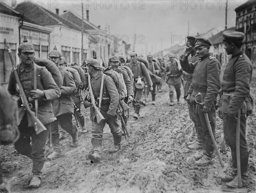
<path fill-rule="evenodd" d="M 13 60 L 13 57 L 12 57 L 12 50 L 9 46 L 9 43 L 7 43 L 6 38 L 4 39 L 4 43 L 6 45 L 8 53 L 9 53 L 9 57 L 10 57 L 10 60 L 11 60 L 11 63 L 12 63 L 12 69 L 15 73 L 17 90 L 20 93 L 20 98 L 21 98 L 21 101 L 22 101 L 21 106 L 23 106 L 26 109 L 26 112 L 29 114 L 29 118 L 30 118 L 30 120 L 31 120 L 31 122 L 32 122 L 32 124 L 34 125 L 34 128 L 35 128 L 35 133 L 39 134 L 42 131 L 46 131 L 47 128 L 45 128 L 43 123 L 37 118 L 35 112 L 31 111 L 32 104 L 28 102 L 28 99 L 26 98 L 26 95 L 24 93 L 22 84 L 20 82 L 20 77 L 19 77 L 18 72 L 17 72 L 17 68 L 15 68 L 15 63 L 14 63 L 14 60 Z"/>

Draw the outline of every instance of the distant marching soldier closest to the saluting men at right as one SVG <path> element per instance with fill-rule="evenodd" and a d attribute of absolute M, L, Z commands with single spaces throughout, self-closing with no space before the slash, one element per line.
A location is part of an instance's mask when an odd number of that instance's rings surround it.
<path fill-rule="evenodd" d="M 174 54 L 169 54 L 169 59 L 170 61 L 166 65 L 166 82 L 169 86 L 169 97 L 170 97 L 170 106 L 174 105 L 174 90 L 176 91 L 177 95 L 177 103 L 180 103 L 180 84 L 181 84 L 181 79 L 180 79 L 180 74 L 182 73 L 182 68 L 176 62 L 175 55 Z"/>

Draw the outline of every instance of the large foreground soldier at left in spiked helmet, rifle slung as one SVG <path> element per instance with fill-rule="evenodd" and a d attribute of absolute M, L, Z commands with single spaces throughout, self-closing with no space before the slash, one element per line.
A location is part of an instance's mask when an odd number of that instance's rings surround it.
<path fill-rule="evenodd" d="M 20 106 L 22 102 L 19 99 L 20 108 L 17 111 L 17 125 L 20 137 L 15 142 L 15 149 L 20 154 L 32 159 L 32 180 L 29 186 L 39 187 L 41 184 L 41 170 L 45 161 L 45 143 L 49 136 L 51 123 L 56 119 L 50 101 L 58 98 L 61 91 L 49 71 L 33 62 L 35 49 L 32 44 L 20 44 L 18 56 L 20 64 L 17 65 L 17 74 L 14 70 L 10 74 L 8 91 L 11 95 L 19 96 L 15 79 L 15 76 L 18 75 L 28 102 L 32 104 L 31 110 L 37 114 L 38 119 L 47 130 L 38 134 L 35 133 L 29 114 Z"/>

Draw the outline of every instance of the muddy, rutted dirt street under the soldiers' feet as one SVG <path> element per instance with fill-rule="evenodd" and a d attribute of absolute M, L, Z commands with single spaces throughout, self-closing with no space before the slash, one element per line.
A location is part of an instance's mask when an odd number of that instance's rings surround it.
<path fill-rule="evenodd" d="M 256 82 L 253 71 L 251 95 L 255 101 Z M 149 95 L 149 99 L 151 96 Z M 186 142 L 192 141 L 192 122 L 186 102 L 169 107 L 168 87 L 157 93 L 156 105 L 143 107 L 140 118 L 134 120 L 134 110 L 130 105 L 128 131 L 131 137 L 122 138 L 122 147 L 115 154 L 109 154 L 113 137 L 108 126 L 104 129 L 102 161 L 91 163 L 87 158 L 91 146 L 91 134 L 80 133 L 78 148 L 70 146 L 71 137 L 61 140 L 62 156 L 47 160 L 43 169 L 41 187 L 29 189 L 32 162 L 18 154 L 13 145 L 1 146 L 1 162 L 4 182 L 11 192 L 69 193 L 69 192 L 255 192 L 256 179 L 256 130 L 255 109 L 247 119 L 247 139 L 249 145 L 249 186 L 240 190 L 229 189 L 220 177 L 230 170 L 230 150 L 221 150 L 224 169 L 214 155 L 211 165 L 195 165 Z M 89 109 L 84 109 L 87 128 L 91 127 Z M 220 148 L 223 128 L 217 118 L 216 142 Z M 47 147 L 46 156 L 52 152 Z"/>

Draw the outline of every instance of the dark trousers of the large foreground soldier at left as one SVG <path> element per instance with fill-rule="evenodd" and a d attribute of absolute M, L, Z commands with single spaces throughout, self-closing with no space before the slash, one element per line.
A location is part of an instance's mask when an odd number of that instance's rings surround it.
<path fill-rule="evenodd" d="M 45 161 L 46 141 L 49 137 L 51 123 L 44 125 L 47 130 L 36 134 L 34 127 L 28 127 L 26 114 L 18 126 L 20 137 L 15 142 L 14 147 L 18 153 L 33 160 L 32 175 L 41 176 L 41 170 Z"/>

